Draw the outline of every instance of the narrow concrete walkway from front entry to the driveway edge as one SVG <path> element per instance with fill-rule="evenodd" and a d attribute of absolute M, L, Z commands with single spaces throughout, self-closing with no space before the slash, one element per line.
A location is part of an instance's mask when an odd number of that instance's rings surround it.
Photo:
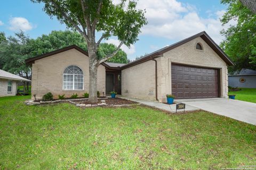
<path fill-rule="evenodd" d="M 167 112 L 171 112 L 171 113 L 175 113 L 176 112 L 176 104 L 173 105 L 167 105 L 167 104 L 163 104 L 163 103 L 159 103 L 158 101 L 149 101 L 149 100 L 141 100 L 141 99 L 135 99 L 135 98 L 129 98 L 129 97 L 121 97 L 118 96 L 119 98 L 123 98 L 123 99 L 127 99 L 127 100 L 131 100 L 131 101 L 136 101 L 138 103 L 141 103 L 143 105 L 147 105 L 150 107 L 155 107 L 158 109 L 161 109 L 163 111 L 167 111 Z M 197 111 L 199 110 L 199 108 L 194 107 L 194 106 L 190 106 L 190 105 L 186 105 L 185 108 L 185 112 L 188 111 Z M 177 112 L 183 112 L 184 110 L 178 110 Z"/>

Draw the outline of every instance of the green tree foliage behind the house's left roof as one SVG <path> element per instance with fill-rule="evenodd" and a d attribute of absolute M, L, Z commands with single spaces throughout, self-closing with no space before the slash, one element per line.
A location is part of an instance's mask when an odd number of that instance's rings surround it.
<path fill-rule="evenodd" d="M 4 32 L 0 32 L 0 69 L 8 72 L 27 75 L 30 79 L 31 68 L 26 65 L 27 58 L 35 57 L 70 45 L 87 50 L 87 45 L 78 32 L 73 31 L 52 31 L 49 35 L 42 35 L 36 39 L 30 38 L 24 32 L 15 33 L 15 36 L 5 37 Z M 98 57 L 113 52 L 116 46 L 103 43 L 100 45 Z M 119 49 L 118 53 L 110 58 L 109 62 L 127 63 L 127 55 Z"/>

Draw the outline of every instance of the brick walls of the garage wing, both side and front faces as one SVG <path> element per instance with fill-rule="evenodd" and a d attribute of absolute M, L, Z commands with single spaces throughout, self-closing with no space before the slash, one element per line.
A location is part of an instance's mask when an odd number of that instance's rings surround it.
<path fill-rule="evenodd" d="M 203 50 L 196 50 L 201 43 Z M 166 94 L 171 94 L 171 64 L 180 63 L 221 69 L 221 97 L 227 98 L 227 64 L 201 38 L 195 38 L 156 58 L 157 60 L 157 98 L 166 102 Z M 122 95 L 133 98 L 155 100 L 155 62 L 148 61 L 122 70 Z M 149 95 L 153 91 L 154 95 Z"/>

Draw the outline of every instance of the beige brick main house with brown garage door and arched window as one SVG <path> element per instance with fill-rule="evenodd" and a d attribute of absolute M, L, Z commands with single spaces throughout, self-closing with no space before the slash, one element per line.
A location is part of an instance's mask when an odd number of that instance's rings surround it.
<path fill-rule="evenodd" d="M 89 91 L 89 57 L 77 46 L 26 60 L 32 65 L 32 94 L 55 98 Z M 227 97 L 230 58 L 206 32 L 200 32 L 159 49 L 129 64 L 102 63 L 98 69 L 98 91 L 115 90 L 123 96 L 166 101 Z"/>

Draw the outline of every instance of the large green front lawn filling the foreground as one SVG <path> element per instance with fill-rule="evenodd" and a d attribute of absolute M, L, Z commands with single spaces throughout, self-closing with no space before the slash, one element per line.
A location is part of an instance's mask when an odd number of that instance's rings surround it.
<path fill-rule="evenodd" d="M 0 98 L 0 169 L 221 169 L 255 165 L 255 126 L 207 112 L 26 106 Z"/>

